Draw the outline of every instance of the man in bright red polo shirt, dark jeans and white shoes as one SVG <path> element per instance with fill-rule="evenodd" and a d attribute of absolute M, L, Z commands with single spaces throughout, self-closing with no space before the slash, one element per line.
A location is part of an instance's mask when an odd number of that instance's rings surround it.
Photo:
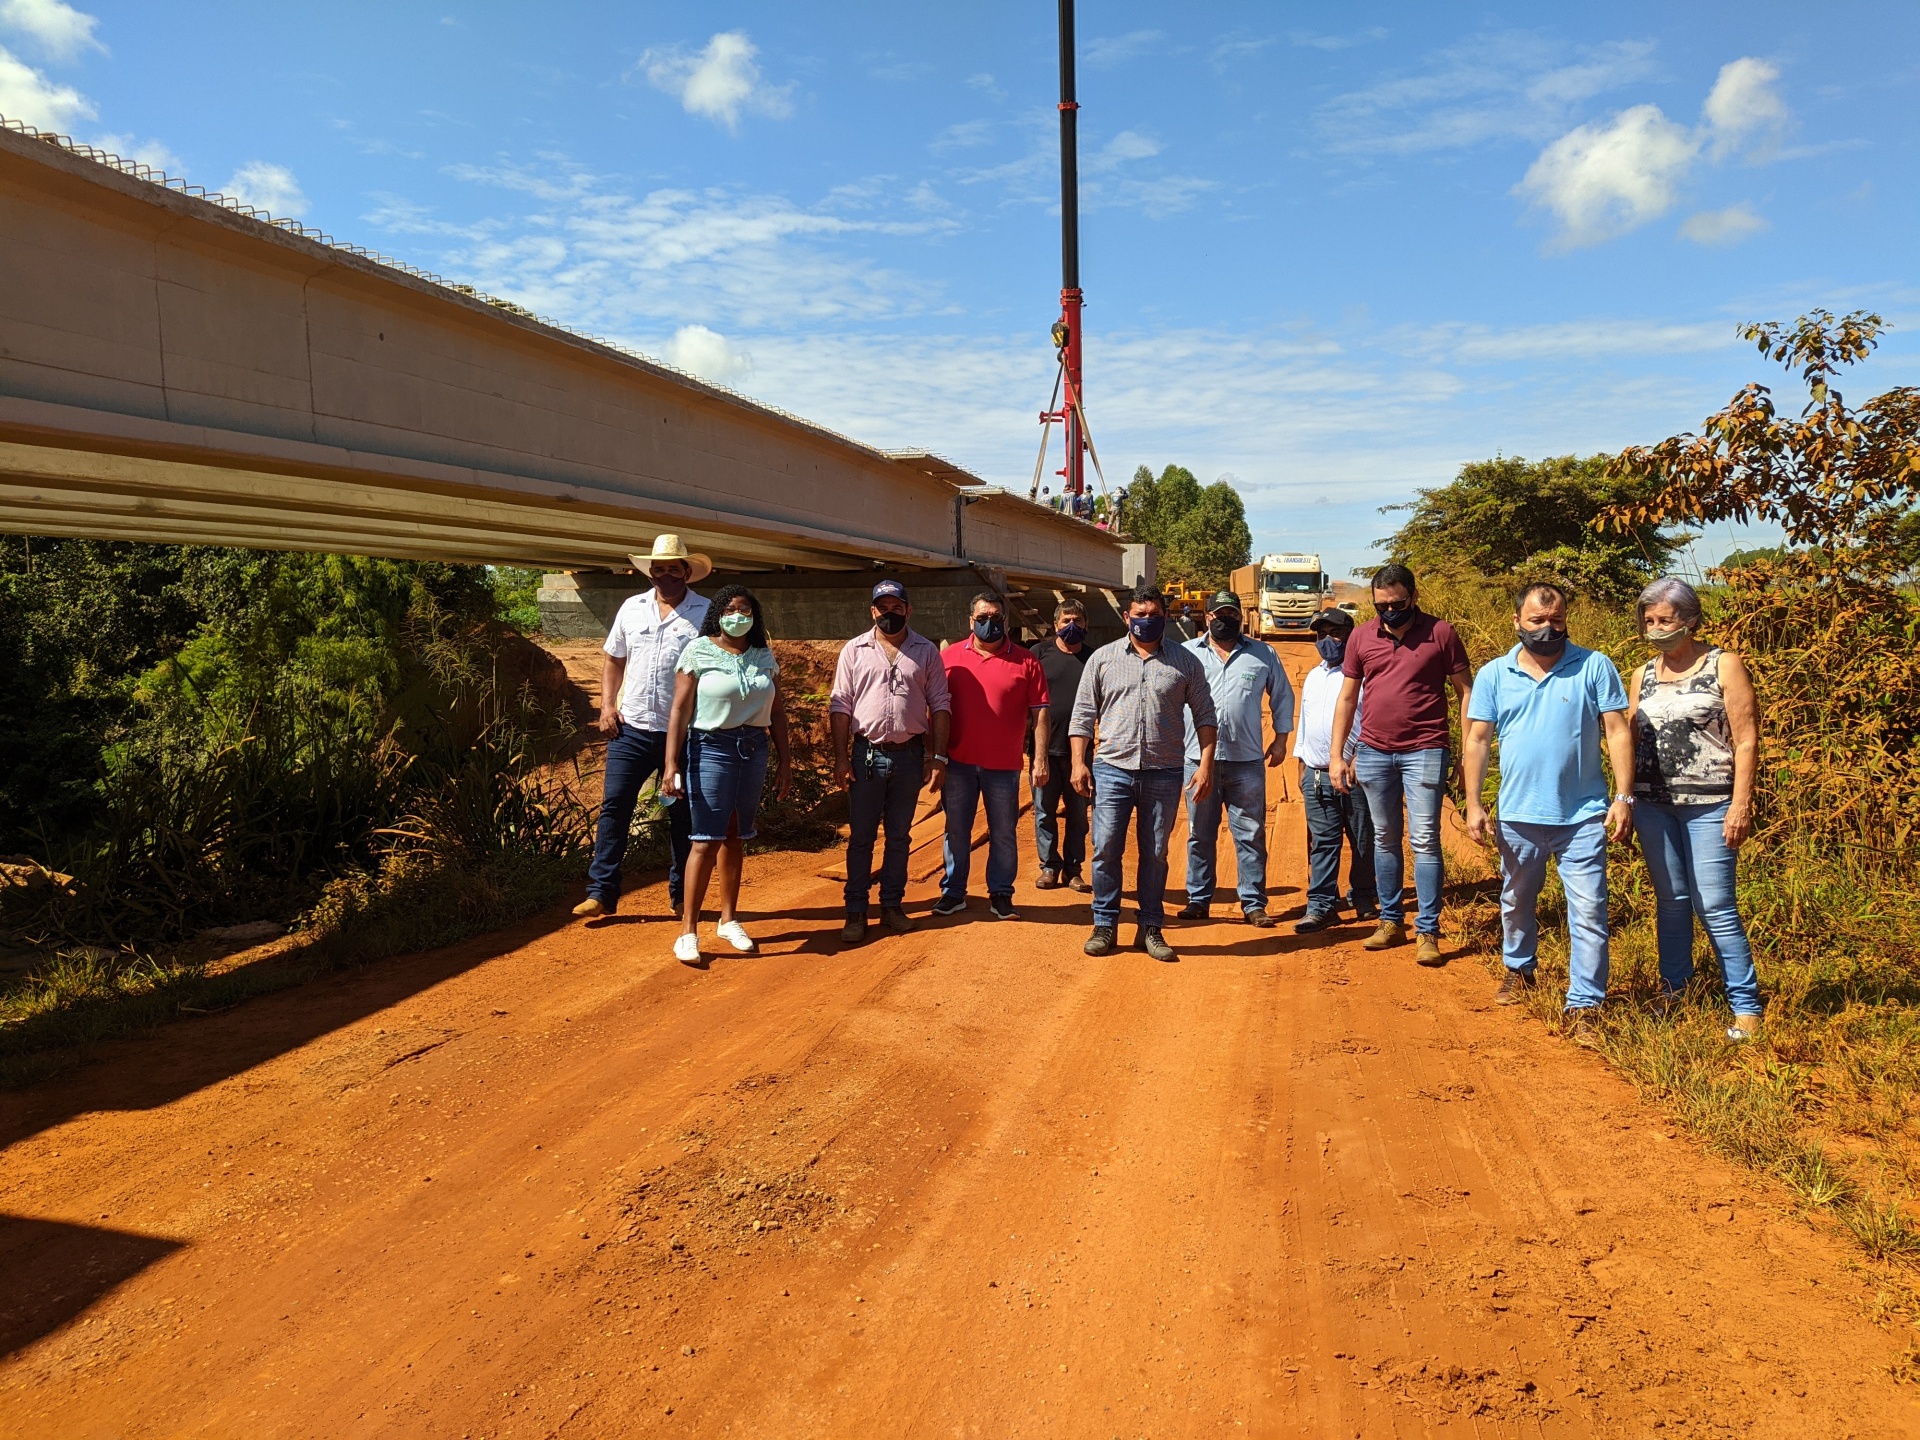
<path fill-rule="evenodd" d="M 952 730 L 947 737 L 947 879 L 933 914 L 966 910 L 973 860 L 973 812 L 987 801 L 987 912 L 1016 920 L 1014 876 L 1020 868 L 1020 772 L 1027 760 L 1027 716 L 1033 716 L 1033 783 L 1048 778 L 1046 672 L 1033 651 L 1006 637 L 998 595 L 973 597 L 972 634 L 948 645 L 947 693 Z"/>

